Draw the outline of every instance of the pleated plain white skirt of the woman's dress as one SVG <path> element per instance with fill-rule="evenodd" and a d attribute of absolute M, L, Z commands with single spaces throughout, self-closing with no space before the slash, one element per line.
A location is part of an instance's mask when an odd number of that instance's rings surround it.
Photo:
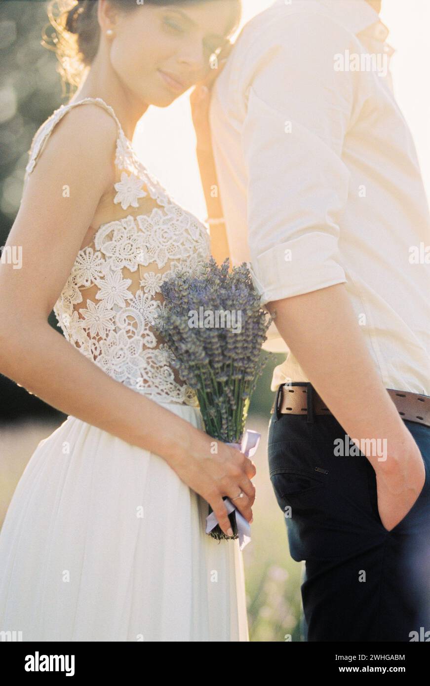
<path fill-rule="evenodd" d="M 196 427 L 199 410 L 165 403 Z M 0 532 L 0 630 L 23 641 L 248 641 L 238 541 L 166 462 L 69 416 Z M 16 633 L 18 635 L 18 633 Z"/>

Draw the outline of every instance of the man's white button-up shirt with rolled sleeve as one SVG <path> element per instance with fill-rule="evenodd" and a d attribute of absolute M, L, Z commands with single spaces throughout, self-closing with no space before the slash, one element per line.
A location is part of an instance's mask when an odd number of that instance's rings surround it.
<path fill-rule="evenodd" d="M 387 34 L 366 0 L 278 0 L 215 84 L 213 147 L 262 303 L 345 283 L 385 388 L 430 395 L 429 206 Z M 265 347 L 287 351 L 276 331 Z M 288 379 L 308 380 L 292 353 L 272 390 Z"/>

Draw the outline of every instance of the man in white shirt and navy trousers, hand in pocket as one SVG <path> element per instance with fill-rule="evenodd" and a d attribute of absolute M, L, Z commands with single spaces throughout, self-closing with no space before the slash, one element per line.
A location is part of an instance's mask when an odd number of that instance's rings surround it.
<path fill-rule="evenodd" d="M 289 349 L 269 462 L 309 641 L 430 630 L 430 217 L 380 4 L 277 0 L 211 102 L 232 262 Z"/>

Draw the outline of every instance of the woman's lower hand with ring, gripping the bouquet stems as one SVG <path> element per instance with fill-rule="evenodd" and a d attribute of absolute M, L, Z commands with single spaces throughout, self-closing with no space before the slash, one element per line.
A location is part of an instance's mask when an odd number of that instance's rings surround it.
<path fill-rule="evenodd" d="M 219 526 L 227 536 L 232 536 L 223 496 L 235 498 L 235 507 L 247 521 L 251 521 L 255 488 L 250 479 L 256 473 L 255 465 L 243 453 L 226 443 L 214 441 L 207 434 L 201 434 L 200 438 L 202 441 L 198 441 L 199 445 L 191 447 L 188 458 L 181 460 L 180 464 L 176 463 L 174 469 L 187 486 L 208 502 L 215 512 Z M 212 454 L 214 445 L 217 453 Z M 241 491 L 245 495 L 237 498 Z"/>

